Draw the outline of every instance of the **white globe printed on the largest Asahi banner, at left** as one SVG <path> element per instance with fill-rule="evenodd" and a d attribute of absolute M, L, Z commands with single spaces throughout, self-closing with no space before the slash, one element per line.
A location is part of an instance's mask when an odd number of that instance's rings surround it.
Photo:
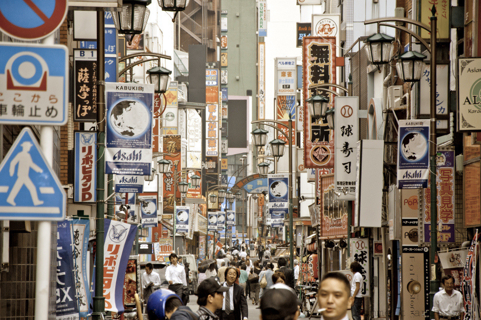
<path fill-rule="evenodd" d="M 118 102 L 110 115 L 114 130 L 124 137 L 136 137 L 147 129 L 150 115 L 145 106 L 133 100 Z"/>

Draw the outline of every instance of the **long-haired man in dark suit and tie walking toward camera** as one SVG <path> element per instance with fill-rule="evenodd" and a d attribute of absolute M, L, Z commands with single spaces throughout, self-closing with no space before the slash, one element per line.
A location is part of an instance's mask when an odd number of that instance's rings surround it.
<path fill-rule="evenodd" d="M 229 290 L 224 292 L 222 309 L 217 310 L 216 314 L 220 320 L 247 320 L 248 309 L 244 289 L 235 283 L 239 278 L 237 268 L 228 267 L 225 276 L 226 282 L 223 286 Z"/>

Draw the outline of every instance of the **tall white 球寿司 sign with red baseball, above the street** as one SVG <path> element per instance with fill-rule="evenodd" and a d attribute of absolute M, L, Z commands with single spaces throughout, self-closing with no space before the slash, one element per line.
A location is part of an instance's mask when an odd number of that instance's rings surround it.
<path fill-rule="evenodd" d="M 359 140 L 359 97 L 336 97 L 335 113 L 335 189 L 338 200 L 356 199 L 356 161 Z"/>

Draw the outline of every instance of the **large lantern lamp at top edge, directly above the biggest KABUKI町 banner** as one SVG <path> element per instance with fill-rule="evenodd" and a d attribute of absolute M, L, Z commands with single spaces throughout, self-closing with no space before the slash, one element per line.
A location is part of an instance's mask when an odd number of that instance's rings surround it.
<path fill-rule="evenodd" d="M 120 11 L 112 10 L 115 28 L 120 34 L 125 35 L 125 39 L 127 39 L 129 44 L 132 43 L 132 39 L 136 34 L 144 32 L 148 16 L 150 15 L 147 6 L 151 2 L 151 0 L 123 0 Z"/>

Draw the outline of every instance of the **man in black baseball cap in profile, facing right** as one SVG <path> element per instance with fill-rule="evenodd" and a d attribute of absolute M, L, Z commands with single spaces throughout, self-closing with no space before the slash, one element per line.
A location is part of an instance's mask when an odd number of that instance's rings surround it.
<path fill-rule="evenodd" d="M 199 320 L 218 320 L 215 311 L 222 309 L 224 292 L 229 290 L 221 286 L 215 278 L 208 278 L 197 287 L 197 304 Z"/>

